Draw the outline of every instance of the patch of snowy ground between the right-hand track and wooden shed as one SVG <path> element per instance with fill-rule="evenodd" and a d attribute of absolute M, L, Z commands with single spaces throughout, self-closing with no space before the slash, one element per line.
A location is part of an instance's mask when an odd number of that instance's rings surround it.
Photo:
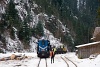
<path fill-rule="evenodd" d="M 66 57 L 72 60 L 78 67 L 100 67 L 100 55 L 98 55 L 95 59 L 78 59 L 75 56 L 75 53 L 67 53 Z"/>

